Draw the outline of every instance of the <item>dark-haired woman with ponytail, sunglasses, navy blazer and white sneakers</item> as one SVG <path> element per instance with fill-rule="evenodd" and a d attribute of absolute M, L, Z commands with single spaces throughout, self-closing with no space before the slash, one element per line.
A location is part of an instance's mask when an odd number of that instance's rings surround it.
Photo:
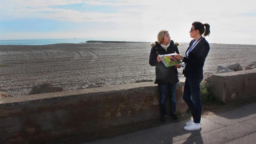
<path fill-rule="evenodd" d="M 175 58 L 182 60 L 185 64 L 183 74 L 186 77 L 184 83 L 183 99 L 191 110 L 193 120 L 186 122 L 185 130 L 197 130 L 201 125 L 202 103 L 200 98 L 200 82 L 203 79 L 203 66 L 210 46 L 207 40 L 202 37 L 209 36 L 210 25 L 201 22 L 193 22 L 189 31 L 190 37 L 194 38 L 189 43 L 186 56 L 179 54 Z"/>

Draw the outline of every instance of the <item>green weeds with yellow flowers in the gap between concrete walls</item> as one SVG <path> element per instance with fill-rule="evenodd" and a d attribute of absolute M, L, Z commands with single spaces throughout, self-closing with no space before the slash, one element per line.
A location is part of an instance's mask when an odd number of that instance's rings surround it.
<path fill-rule="evenodd" d="M 210 83 L 211 84 L 211 83 Z M 209 105 L 209 104 L 224 104 L 220 99 L 214 97 L 211 94 L 210 87 L 205 84 L 204 81 L 200 83 L 200 95 L 201 95 L 201 101 L 202 105 Z"/>

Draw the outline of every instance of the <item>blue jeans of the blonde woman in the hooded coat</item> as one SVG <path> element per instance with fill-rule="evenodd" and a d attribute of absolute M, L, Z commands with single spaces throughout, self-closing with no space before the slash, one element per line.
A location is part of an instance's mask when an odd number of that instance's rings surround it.
<path fill-rule="evenodd" d="M 170 100 L 170 112 L 176 113 L 176 87 L 177 83 L 173 84 L 158 84 L 159 93 L 160 93 L 160 109 L 161 109 L 161 116 L 167 116 L 167 110 L 166 110 L 166 96 L 167 96 L 167 90 L 169 94 L 169 100 Z"/>

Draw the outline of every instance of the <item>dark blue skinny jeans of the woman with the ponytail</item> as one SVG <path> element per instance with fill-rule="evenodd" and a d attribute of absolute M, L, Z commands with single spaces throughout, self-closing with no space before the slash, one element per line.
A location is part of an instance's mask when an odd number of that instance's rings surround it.
<path fill-rule="evenodd" d="M 184 84 L 183 99 L 188 105 L 195 123 L 200 123 L 202 115 L 202 103 L 200 97 L 200 83 L 202 79 L 186 78 Z"/>

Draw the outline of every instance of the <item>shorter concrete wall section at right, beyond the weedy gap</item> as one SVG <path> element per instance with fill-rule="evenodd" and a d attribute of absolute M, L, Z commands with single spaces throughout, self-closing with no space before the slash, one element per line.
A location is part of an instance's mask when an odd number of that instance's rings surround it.
<path fill-rule="evenodd" d="M 223 102 L 256 97 L 256 69 L 214 74 L 206 78 L 211 92 Z"/>

